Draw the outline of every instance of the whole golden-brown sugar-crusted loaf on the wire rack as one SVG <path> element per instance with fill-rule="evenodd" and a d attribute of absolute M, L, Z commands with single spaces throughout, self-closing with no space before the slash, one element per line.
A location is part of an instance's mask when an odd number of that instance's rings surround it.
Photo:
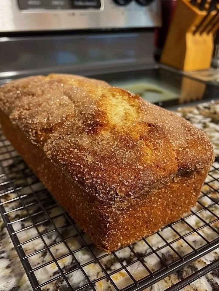
<path fill-rule="evenodd" d="M 99 80 L 19 79 L 0 88 L 0 108 L 5 136 L 107 252 L 180 218 L 214 160 L 201 130 Z"/>

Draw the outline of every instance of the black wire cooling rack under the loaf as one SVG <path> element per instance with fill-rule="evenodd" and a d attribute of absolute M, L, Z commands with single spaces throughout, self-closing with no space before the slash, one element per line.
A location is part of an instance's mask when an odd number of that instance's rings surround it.
<path fill-rule="evenodd" d="M 0 212 L 34 290 L 143 290 L 219 247 L 219 160 L 189 213 L 106 254 L 57 204 L 0 128 Z M 218 264 L 212 262 L 174 290 Z"/>

